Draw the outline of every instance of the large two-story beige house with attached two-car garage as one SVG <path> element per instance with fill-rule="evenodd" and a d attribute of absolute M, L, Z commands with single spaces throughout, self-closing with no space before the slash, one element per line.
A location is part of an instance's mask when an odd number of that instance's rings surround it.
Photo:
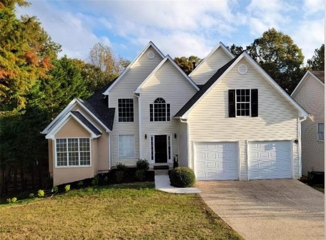
<path fill-rule="evenodd" d="M 149 42 L 113 82 L 42 131 L 58 185 L 118 163 L 194 169 L 197 180 L 301 177 L 308 113 L 247 54 L 219 43 L 187 76 Z"/>

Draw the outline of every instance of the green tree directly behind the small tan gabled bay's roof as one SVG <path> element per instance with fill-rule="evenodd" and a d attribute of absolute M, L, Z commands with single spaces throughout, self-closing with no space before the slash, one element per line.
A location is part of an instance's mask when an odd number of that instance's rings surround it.
<path fill-rule="evenodd" d="M 49 112 L 50 119 L 55 118 L 72 99 L 90 95 L 75 60 L 64 56 L 52 64 L 54 67 L 49 71 L 50 77 L 42 81 L 40 88 L 43 108 Z"/>

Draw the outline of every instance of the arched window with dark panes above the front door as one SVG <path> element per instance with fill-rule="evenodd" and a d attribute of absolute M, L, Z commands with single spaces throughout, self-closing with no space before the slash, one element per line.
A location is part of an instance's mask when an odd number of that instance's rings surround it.
<path fill-rule="evenodd" d="M 149 111 L 151 122 L 170 121 L 170 104 L 163 98 L 156 98 L 154 103 L 149 104 Z"/>

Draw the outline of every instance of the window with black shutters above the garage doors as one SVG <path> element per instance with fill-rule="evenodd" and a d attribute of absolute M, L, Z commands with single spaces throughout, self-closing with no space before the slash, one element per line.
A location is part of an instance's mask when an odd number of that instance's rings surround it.
<path fill-rule="evenodd" d="M 258 117 L 258 89 L 229 90 L 229 117 Z"/>

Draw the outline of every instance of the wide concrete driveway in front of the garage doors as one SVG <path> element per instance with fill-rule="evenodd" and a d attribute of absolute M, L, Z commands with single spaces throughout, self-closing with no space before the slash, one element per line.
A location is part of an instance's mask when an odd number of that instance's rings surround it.
<path fill-rule="evenodd" d="M 324 239 L 324 194 L 298 180 L 199 181 L 196 187 L 247 240 Z"/>

